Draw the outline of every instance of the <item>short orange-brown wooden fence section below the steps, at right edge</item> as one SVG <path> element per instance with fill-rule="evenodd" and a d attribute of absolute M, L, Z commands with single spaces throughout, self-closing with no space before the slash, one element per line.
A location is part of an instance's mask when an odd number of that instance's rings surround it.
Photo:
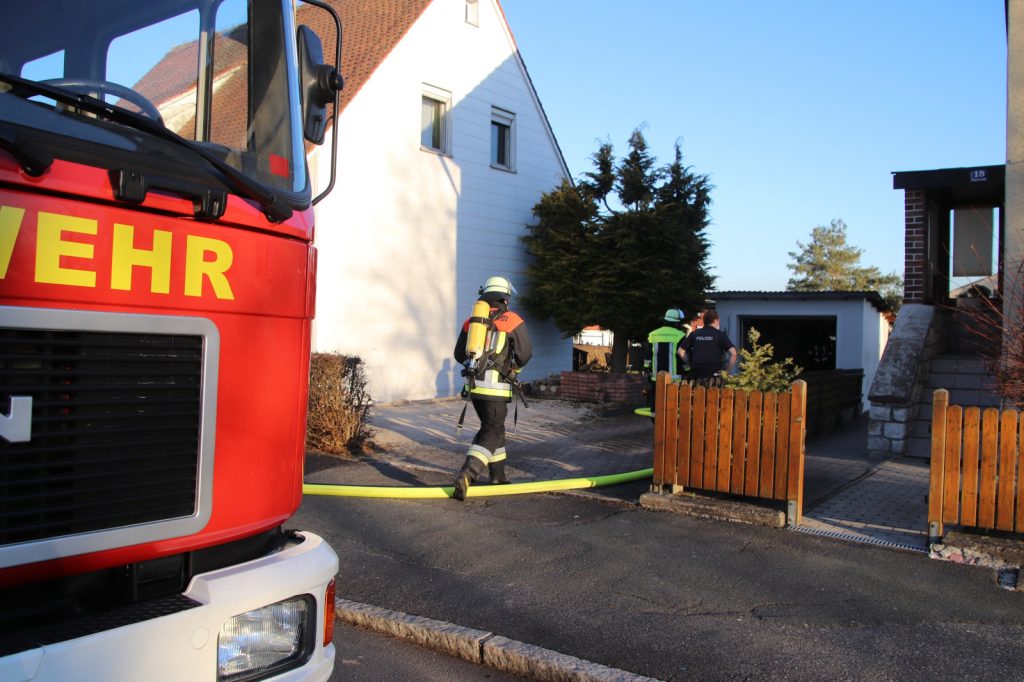
<path fill-rule="evenodd" d="M 932 398 L 928 528 L 943 524 L 1024 532 L 1024 419 L 1016 410 L 949 404 Z"/>

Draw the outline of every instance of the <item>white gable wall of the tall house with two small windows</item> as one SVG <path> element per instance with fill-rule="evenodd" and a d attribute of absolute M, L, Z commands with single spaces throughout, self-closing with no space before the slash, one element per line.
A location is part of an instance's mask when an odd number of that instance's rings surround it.
<path fill-rule="evenodd" d="M 567 175 L 498 6 L 479 27 L 464 0 L 435 0 L 342 112 L 338 178 L 316 209 L 314 351 L 360 356 L 378 402 L 457 394 L 456 336 L 486 278 L 522 293 L 519 238 L 544 191 Z M 424 85 L 452 93 L 452 154 L 420 148 Z M 515 115 L 515 165 L 490 167 L 490 112 Z M 330 134 L 330 133 L 329 133 Z M 313 153 L 329 177 L 330 152 Z M 567 370 L 571 344 L 526 318 L 522 377 Z"/>

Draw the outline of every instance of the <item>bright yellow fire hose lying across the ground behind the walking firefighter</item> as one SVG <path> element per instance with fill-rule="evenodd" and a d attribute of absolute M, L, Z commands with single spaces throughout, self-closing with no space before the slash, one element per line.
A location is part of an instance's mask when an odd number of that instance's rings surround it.
<path fill-rule="evenodd" d="M 559 478 L 555 480 L 536 480 L 528 483 L 509 483 L 508 485 L 492 485 L 484 482 L 470 485 L 466 497 L 484 498 L 497 495 L 523 495 L 526 493 L 551 493 L 552 491 L 574 491 L 582 487 L 599 487 L 614 485 L 629 481 L 648 478 L 653 469 L 640 469 L 626 473 L 593 476 L 590 478 Z M 401 498 L 403 500 L 433 500 L 452 497 L 452 485 L 439 487 L 398 487 L 393 485 L 331 485 L 325 483 L 305 483 L 302 492 L 306 495 L 326 495 L 336 498 Z"/>

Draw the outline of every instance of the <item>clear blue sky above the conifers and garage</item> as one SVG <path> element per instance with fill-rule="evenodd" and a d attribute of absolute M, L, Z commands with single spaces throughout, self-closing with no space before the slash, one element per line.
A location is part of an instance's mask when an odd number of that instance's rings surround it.
<path fill-rule="evenodd" d="M 903 269 L 894 171 L 1006 161 L 1002 0 L 501 0 L 573 177 L 644 127 L 710 176 L 719 290 L 782 290 L 846 221 Z"/>

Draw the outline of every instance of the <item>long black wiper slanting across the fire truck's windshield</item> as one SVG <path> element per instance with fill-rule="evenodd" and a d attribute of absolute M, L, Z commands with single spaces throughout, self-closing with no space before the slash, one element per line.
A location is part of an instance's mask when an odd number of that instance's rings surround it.
<path fill-rule="evenodd" d="M 17 76 L 12 76 L 10 74 L 0 73 L 0 82 L 8 83 L 13 86 L 9 91 L 10 94 L 18 96 L 41 95 L 43 97 L 48 97 L 62 104 L 76 106 L 84 112 L 88 112 L 89 114 L 95 114 L 110 121 L 114 121 L 115 123 L 126 125 L 130 128 L 134 128 L 135 130 L 141 130 L 142 132 L 150 133 L 155 137 L 184 146 L 216 168 L 224 176 L 224 179 L 231 189 L 246 199 L 251 199 L 258 203 L 264 215 L 266 215 L 267 219 L 271 222 L 282 222 L 292 217 L 291 207 L 289 207 L 276 193 L 250 178 L 248 175 L 242 173 L 232 166 L 227 165 L 211 152 L 196 144 L 191 140 L 181 137 L 174 131 L 165 128 L 160 123 L 142 116 L 141 114 L 136 114 L 135 112 L 129 112 L 126 109 L 115 106 L 114 104 L 110 104 L 102 99 L 93 97 L 89 94 L 75 92 L 74 90 L 70 90 L 68 88 L 47 85 L 46 83 L 39 83 L 25 78 L 18 78 Z M 26 95 L 27 92 L 29 93 L 28 95 Z M 4 148 L 7 147 L 5 146 Z"/>

